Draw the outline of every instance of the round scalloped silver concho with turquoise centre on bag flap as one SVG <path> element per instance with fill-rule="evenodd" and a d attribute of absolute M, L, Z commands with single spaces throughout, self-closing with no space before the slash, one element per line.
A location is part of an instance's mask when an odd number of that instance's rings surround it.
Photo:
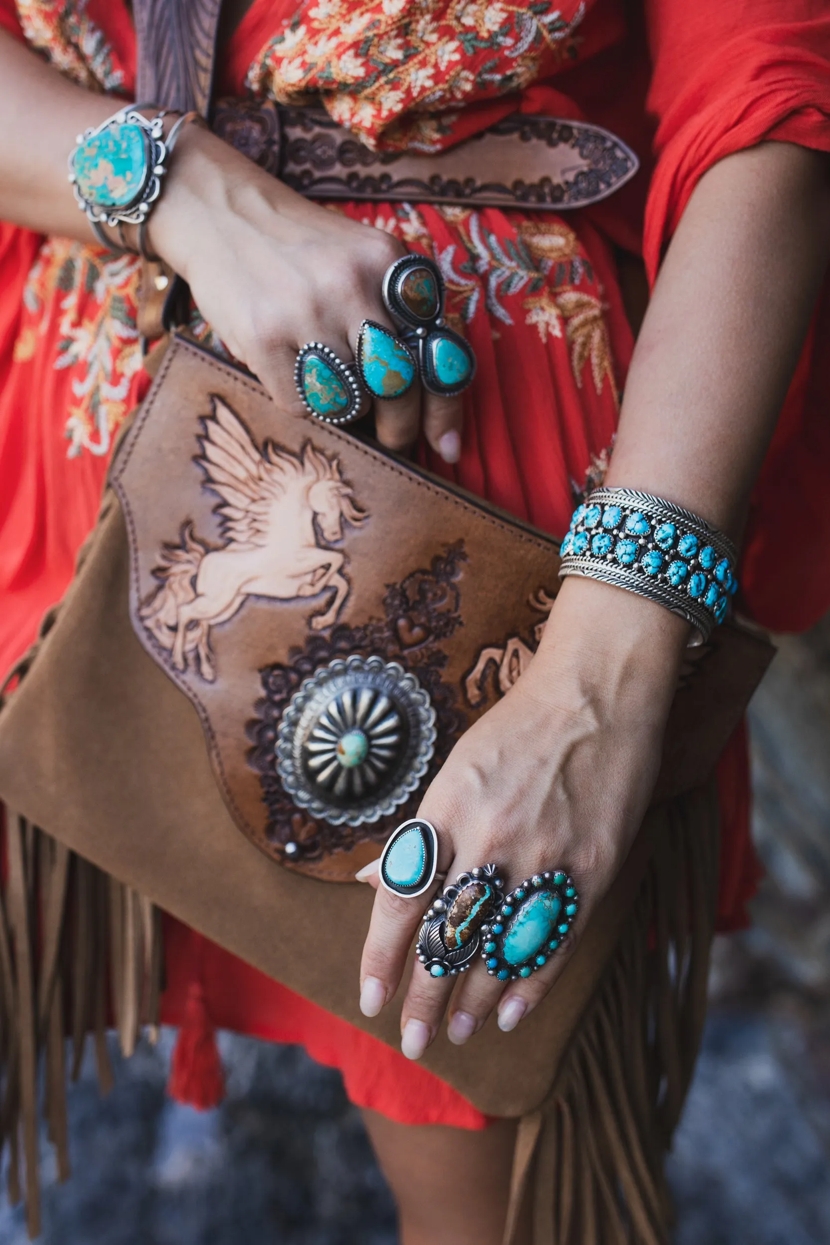
<path fill-rule="evenodd" d="M 382 657 L 338 657 L 294 693 L 276 736 L 295 804 L 332 825 L 393 813 L 436 748 L 436 711 L 414 675 Z"/>

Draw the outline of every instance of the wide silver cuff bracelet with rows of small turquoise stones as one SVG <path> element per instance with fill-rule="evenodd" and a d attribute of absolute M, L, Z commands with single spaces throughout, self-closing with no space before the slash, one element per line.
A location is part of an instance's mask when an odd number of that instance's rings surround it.
<path fill-rule="evenodd" d="M 708 640 L 738 588 L 732 542 L 679 505 L 632 488 L 597 488 L 574 512 L 560 576 L 585 575 L 657 601 Z"/>

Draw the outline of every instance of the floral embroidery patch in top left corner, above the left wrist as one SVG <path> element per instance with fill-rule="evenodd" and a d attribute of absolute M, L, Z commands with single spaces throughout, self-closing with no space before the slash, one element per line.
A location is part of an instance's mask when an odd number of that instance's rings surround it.
<path fill-rule="evenodd" d="M 15 0 L 15 7 L 26 42 L 61 73 L 87 90 L 123 86 L 110 44 L 87 14 L 88 0 Z"/>

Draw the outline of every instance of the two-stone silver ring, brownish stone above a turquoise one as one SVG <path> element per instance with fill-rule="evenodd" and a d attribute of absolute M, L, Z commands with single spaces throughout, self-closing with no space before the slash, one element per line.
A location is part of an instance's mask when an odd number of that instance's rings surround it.
<path fill-rule="evenodd" d="M 441 396 L 463 392 L 475 376 L 475 355 L 444 324 L 444 279 L 426 255 L 402 255 L 383 276 L 383 304 L 417 356 L 424 388 Z"/>

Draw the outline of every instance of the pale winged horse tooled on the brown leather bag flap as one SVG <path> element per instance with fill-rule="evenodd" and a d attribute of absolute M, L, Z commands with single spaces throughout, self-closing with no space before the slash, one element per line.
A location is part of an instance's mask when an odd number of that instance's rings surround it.
<path fill-rule="evenodd" d="M 173 665 L 187 670 L 192 656 L 208 682 L 215 679 L 210 629 L 226 622 L 248 596 L 295 600 L 333 596 L 310 619 L 315 631 L 337 620 L 350 591 L 346 555 L 327 548 L 343 538 L 343 522 L 357 527 L 368 515 L 340 474 L 340 461 L 310 441 L 299 454 L 265 441 L 261 451 L 241 420 L 219 397 L 202 420 L 203 487 L 220 498 L 224 544 L 200 540 L 193 523 L 178 544 L 162 547 L 153 575 L 158 588 L 141 608 L 141 619 Z M 325 544 L 320 543 L 319 537 Z"/>

